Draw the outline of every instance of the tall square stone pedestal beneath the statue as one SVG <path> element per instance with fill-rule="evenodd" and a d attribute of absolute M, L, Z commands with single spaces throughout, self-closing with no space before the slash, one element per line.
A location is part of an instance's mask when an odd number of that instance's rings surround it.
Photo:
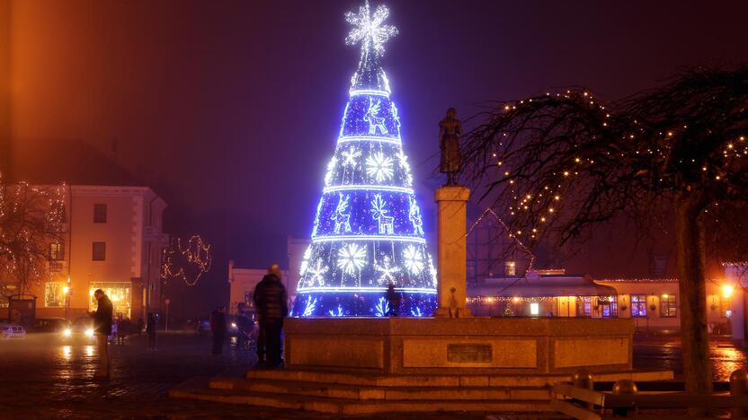
<path fill-rule="evenodd" d="M 435 317 L 467 318 L 467 199 L 465 187 L 442 187 L 434 199 L 438 205 L 439 305 Z"/>

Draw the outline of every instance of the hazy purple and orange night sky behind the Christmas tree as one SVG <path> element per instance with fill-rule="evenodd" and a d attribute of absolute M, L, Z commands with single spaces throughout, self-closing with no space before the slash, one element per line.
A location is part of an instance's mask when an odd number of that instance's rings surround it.
<path fill-rule="evenodd" d="M 748 60 L 746 2 L 387 4 L 400 34 L 383 63 L 427 231 L 448 107 L 467 118 L 485 101 L 567 85 L 617 100 L 683 66 Z M 199 232 L 216 247 L 199 286 L 171 292 L 184 316 L 207 311 L 227 299 L 228 258 L 285 262 L 287 235 L 311 231 L 358 62 L 358 48 L 343 43 L 343 13 L 359 5 L 11 1 L 0 10 L 10 39 L 0 69 L 10 88 L 4 162 L 32 182 L 103 183 L 129 172 L 156 189 L 170 205 L 170 232 Z"/>

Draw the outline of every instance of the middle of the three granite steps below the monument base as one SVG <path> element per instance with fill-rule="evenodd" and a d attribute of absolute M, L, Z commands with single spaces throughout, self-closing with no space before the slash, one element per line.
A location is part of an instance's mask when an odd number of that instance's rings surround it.
<path fill-rule="evenodd" d="M 547 387 L 381 387 L 331 382 L 280 381 L 261 378 L 245 380 L 216 377 L 210 380 L 210 388 L 357 400 L 535 399 L 547 401 L 550 398 L 550 389 Z"/>

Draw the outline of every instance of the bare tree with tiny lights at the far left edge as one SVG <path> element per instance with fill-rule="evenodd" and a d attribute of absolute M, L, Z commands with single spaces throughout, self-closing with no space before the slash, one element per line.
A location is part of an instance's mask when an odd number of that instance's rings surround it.
<path fill-rule="evenodd" d="M 0 294 L 28 293 L 62 242 L 65 186 L 5 184 L 0 176 Z"/>

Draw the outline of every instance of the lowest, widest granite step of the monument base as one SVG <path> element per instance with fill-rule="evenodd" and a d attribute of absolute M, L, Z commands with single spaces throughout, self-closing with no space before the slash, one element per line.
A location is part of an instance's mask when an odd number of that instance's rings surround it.
<path fill-rule="evenodd" d="M 171 398 L 190 398 L 230 404 L 286 408 L 327 413 L 337 416 L 375 415 L 384 413 L 425 412 L 536 412 L 548 413 L 548 401 L 504 399 L 489 400 L 358 400 L 351 398 L 309 397 L 240 389 L 210 389 L 205 378 L 183 382 L 169 391 Z"/>

